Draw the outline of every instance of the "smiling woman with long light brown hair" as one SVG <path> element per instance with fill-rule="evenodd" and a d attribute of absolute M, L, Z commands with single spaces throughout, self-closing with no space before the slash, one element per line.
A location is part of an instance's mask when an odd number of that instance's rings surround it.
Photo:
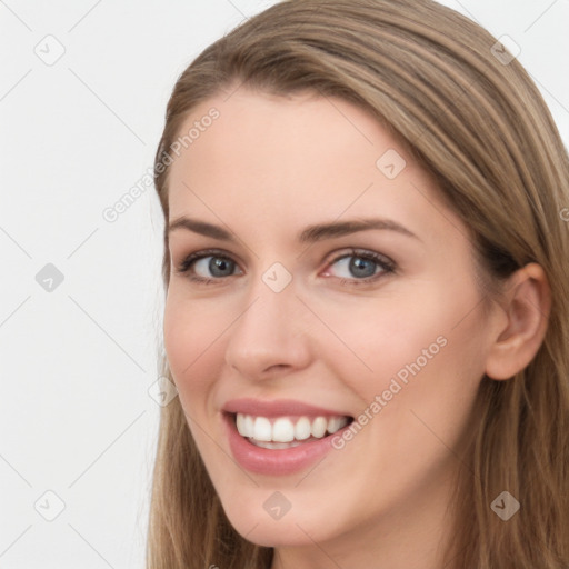
<path fill-rule="evenodd" d="M 156 184 L 149 569 L 569 567 L 568 157 L 503 46 L 281 2 L 181 74 Z"/>

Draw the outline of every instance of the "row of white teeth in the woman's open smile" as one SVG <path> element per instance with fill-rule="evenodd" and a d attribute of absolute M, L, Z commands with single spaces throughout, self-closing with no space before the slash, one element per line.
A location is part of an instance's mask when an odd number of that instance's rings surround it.
<path fill-rule="evenodd" d="M 263 448 L 296 447 L 298 441 L 309 438 L 321 439 L 327 432 L 332 435 L 348 425 L 348 417 L 308 417 L 290 419 L 279 417 L 272 422 L 267 417 L 252 417 L 237 413 L 236 425 L 239 435 L 254 439 Z M 281 443 L 281 445 L 279 445 Z"/>

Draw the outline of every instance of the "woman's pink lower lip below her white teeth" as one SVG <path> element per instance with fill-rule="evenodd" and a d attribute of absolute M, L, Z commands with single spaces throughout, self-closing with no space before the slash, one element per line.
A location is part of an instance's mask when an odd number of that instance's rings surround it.
<path fill-rule="evenodd" d="M 332 437 L 341 436 L 349 427 L 290 449 L 264 449 L 239 435 L 234 416 L 223 413 L 223 420 L 228 429 L 229 447 L 239 465 L 251 472 L 270 476 L 290 475 L 309 467 L 332 449 Z"/>

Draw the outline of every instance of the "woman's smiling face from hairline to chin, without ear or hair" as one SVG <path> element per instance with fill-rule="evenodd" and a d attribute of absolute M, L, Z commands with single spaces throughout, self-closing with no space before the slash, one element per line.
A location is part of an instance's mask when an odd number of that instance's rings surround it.
<path fill-rule="evenodd" d="M 490 346 L 465 226 L 348 102 L 241 88 L 192 128 L 164 341 L 231 523 L 266 546 L 440 532 Z"/>

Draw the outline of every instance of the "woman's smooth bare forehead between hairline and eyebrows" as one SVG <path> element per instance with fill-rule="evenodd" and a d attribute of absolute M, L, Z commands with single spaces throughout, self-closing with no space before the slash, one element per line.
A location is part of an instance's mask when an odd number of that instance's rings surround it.
<path fill-rule="evenodd" d="M 418 191 L 436 199 L 406 149 L 366 110 L 336 98 L 238 89 L 196 107 L 179 137 L 170 219 L 214 221 L 247 209 L 269 224 L 367 212 L 405 221 L 411 201 L 425 206 Z"/>

